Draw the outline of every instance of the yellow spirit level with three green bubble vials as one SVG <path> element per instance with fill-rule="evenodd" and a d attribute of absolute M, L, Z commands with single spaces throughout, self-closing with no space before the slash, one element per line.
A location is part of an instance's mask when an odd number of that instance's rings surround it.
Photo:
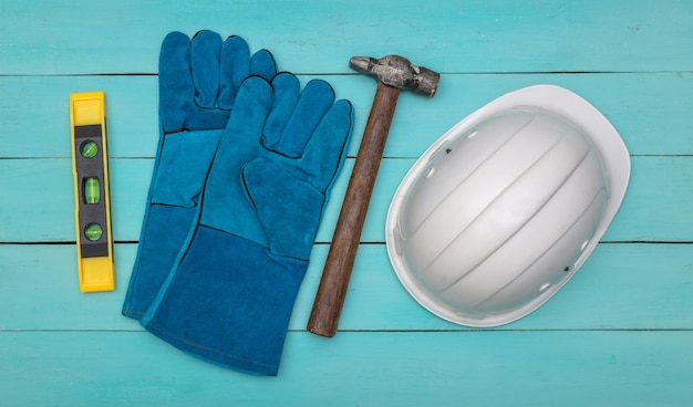
<path fill-rule="evenodd" d="M 103 92 L 70 95 L 80 290 L 115 288 Z"/>

